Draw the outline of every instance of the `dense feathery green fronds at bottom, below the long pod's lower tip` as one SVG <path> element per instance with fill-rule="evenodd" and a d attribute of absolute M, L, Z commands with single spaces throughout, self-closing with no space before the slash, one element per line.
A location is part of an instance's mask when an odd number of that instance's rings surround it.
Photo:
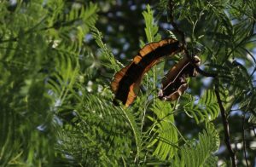
<path fill-rule="evenodd" d="M 77 101 L 75 106 L 59 109 L 63 120 L 63 131 L 58 135 L 60 144 L 56 145 L 61 151 L 60 161 L 66 156 L 71 164 L 83 165 L 120 165 L 132 161 L 129 155 L 134 137 L 125 114 L 119 107 L 113 107 L 103 92 L 88 95 L 86 89 L 80 91 L 72 99 Z"/>

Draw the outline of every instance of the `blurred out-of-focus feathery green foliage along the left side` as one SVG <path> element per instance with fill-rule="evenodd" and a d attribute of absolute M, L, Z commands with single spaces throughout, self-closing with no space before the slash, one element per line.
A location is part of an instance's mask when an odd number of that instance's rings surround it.
<path fill-rule="evenodd" d="M 49 166 L 58 153 L 54 113 L 79 76 L 79 49 L 97 8 L 58 0 L 6 2 L 0 9 L 0 164 Z"/>

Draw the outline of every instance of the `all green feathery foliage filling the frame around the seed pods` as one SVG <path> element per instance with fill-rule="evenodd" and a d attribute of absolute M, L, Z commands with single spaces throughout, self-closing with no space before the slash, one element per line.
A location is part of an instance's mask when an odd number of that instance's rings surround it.
<path fill-rule="evenodd" d="M 255 1 L 84 2 L 0 1 L 2 166 L 230 165 L 227 125 L 237 165 L 255 165 Z M 114 73 L 180 32 L 217 76 L 160 101 L 178 54 L 145 75 L 131 107 L 113 106 Z"/>

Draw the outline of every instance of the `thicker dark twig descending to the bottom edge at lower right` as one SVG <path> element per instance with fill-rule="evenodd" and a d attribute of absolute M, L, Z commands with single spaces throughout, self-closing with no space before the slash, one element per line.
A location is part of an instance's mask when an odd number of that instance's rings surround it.
<path fill-rule="evenodd" d="M 229 122 L 228 122 L 228 119 L 227 119 L 227 116 L 225 114 L 225 109 L 222 105 L 222 101 L 220 99 L 220 95 L 219 95 L 219 92 L 218 92 L 218 85 L 215 84 L 215 94 L 216 94 L 216 97 L 217 97 L 217 101 L 218 101 L 218 107 L 220 109 L 220 112 L 221 112 L 221 116 L 222 116 L 222 123 L 223 123 L 223 126 L 224 126 L 224 141 L 225 141 L 225 144 L 226 144 L 226 147 L 228 148 L 229 150 L 229 153 L 230 153 L 230 158 L 231 158 L 231 161 L 232 161 L 232 166 L 233 167 L 236 167 L 237 164 L 236 164 L 236 154 L 234 153 L 232 147 L 231 147 L 231 144 L 230 144 L 230 126 L 229 126 Z"/>

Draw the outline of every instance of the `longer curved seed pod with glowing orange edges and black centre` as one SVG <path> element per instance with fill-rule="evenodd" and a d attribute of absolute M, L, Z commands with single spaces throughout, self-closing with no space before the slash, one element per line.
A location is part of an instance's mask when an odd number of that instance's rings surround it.
<path fill-rule="evenodd" d="M 160 58 L 175 55 L 181 51 L 183 51 L 182 45 L 173 38 L 148 43 L 144 46 L 133 58 L 130 65 L 125 66 L 114 75 L 111 83 L 111 88 L 115 94 L 114 104 L 118 105 L 117 100 L 119 100 L 128 107 L 137 96 L 143 75 L 158 63 Z"/>

